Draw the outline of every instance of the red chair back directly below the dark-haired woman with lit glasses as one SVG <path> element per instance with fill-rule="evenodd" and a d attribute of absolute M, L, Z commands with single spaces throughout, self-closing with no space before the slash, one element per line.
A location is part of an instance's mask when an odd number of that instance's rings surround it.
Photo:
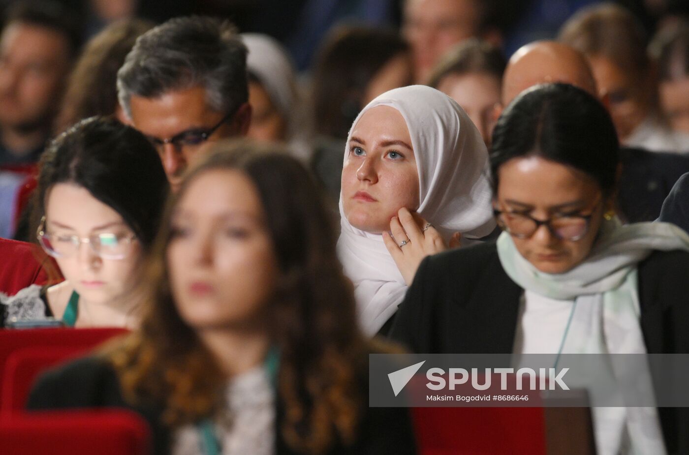
<path fill-rule="evenodd" d="M 117 335 L 125 328 L 37 328 L 0 330 L 0 372 L 12 352 L 31 347 L 73 348 L 74 355 L 88 352 Z"/>

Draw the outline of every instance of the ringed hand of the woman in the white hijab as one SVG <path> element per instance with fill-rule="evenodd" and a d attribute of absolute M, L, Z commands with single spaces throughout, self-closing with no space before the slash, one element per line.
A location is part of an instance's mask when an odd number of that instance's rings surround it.
<path fill-rule="evenodd" d="M 411 286 L 424 257 L 459 246 L 460 242 L 460 233 L 455 233 L 450 246 L 446 245 L 429 222 L 406 208 L 400 209 L 398 216 L 390 220 L 390 231 L 392 235 L 383 232 L 383 241 L 407 286 Z"/>

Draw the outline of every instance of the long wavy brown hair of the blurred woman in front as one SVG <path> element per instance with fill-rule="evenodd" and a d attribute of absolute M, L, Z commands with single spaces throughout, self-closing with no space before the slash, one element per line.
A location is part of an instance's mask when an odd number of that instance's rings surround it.
<path fill-rule="evenodd" d="M 276 146 L 221 145 L 187 174 L 170 201 L 150 261 L 151 297 L 141 330 L 107 351 L 125 398 L 162 404 L 173 427 L 222 407 L 227 378 L 178 314 L 165 262 L 174 207 L 194 180 L 214 169 L 244 173 L 268 214 L 280 268 L 267 314 L 280 352 L 282 436 L 310 454 L 325 452 L 336 441 L 353 441 L 367 400 L 369 343 L 358 330 L 353 286 L 337 260 L 335 231 L 316 184 Z"/>

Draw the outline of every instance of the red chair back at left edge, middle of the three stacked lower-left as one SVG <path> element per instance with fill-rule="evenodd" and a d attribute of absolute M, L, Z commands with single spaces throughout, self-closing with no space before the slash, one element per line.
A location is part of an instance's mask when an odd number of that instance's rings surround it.
<path fill-rule="evenodd" d="M 5 362 L 0 383 L 0 415 L 21 412 L 39 374 L 83 354 L 82 346 L 22 348 Z"/>

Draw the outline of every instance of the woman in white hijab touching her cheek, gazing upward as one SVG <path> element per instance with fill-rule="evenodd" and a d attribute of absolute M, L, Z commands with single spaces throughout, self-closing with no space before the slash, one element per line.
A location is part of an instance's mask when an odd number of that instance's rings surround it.
<path fill-rule="evenodd" d="M 356 286 L 364 332 L 391 319 L 425 255 L 446 249 L 454 233 L 466 243 L 493 231 L 487 162 L 469 116 L 431 87 L 390 90 L 354 120 L 338 255 Z"/>

